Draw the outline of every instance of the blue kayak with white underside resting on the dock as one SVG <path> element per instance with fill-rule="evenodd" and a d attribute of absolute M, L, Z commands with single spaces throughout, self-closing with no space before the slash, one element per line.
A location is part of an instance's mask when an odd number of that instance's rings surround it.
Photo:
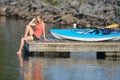
<path fill-rule="evenodd" d="M 120 32 L 111 29 L 50 29 L 58 39 L 79 41 L 106 41 L 120 39 Z"/>

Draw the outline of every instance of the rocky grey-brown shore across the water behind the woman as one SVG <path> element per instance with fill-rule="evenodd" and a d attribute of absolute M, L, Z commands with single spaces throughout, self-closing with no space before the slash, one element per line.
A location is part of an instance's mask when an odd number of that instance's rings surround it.
<path fill-rule="evenodd" d="M 119 0 L 1 0 L 0 15 L 32 19 L 41 14 L 44 21 L 101 28 L 120 22 Z"/>

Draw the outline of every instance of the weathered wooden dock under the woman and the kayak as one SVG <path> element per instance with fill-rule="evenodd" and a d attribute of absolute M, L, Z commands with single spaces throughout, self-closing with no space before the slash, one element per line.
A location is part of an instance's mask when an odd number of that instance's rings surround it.
<path fill-rule="evenodd" d="M 29 52 L 105 52 L 120 53 L 119 41 L 105 42 L 82 42 L 72 40 L 58 40 L 47 37 L 45 42 L 42 38 L 39 41 L 26 41 Z"/>

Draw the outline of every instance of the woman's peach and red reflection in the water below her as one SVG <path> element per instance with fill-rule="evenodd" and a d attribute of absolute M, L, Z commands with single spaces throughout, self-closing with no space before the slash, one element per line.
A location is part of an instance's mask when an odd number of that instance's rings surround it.
<path fill-rule="evenodd" d="M 18 55 L 20 62 L 20 80 L 44 80 L 44 64 L 25 60 Z"/>

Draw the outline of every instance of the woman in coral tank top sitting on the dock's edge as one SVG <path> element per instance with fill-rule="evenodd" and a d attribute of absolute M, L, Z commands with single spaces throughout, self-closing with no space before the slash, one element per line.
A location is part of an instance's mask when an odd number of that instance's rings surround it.
<path fill-rule="evenodd" d="M 32 29 L 32 26 L 35 26 L 35 31 Z M 36 16 L 35 19 L 30 21 L 30 23 L 26 26 L 25 34 L 24 37 L 21 38 L 20 48 L 17 54 L 22 53 L 25 40 L 39 40 L 42 34 L 44 36 L 44 40 L 46 41 L 45 23 L 42 20 L 42 16 Z"/>

